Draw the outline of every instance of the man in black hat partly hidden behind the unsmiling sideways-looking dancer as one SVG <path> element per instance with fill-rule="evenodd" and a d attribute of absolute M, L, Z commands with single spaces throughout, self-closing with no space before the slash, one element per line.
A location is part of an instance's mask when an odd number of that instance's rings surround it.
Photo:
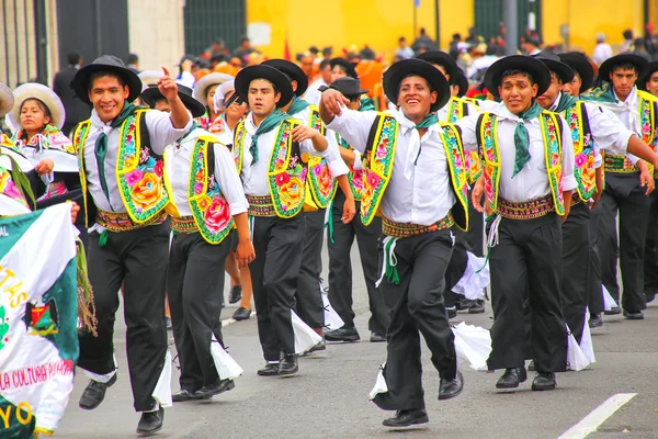
<path fill-rule="evenodd" d="M 308 161 L 307 191 L 310 195 L 305 203 L 304 212 L 304 254 L 302 269 L 297 282 L 297 312 L 299 317 L 320 336 L 324 336 L 325 307 L 320 273 L 322 271 L 322 236 L 325 229 L 325 210 L 331 203 L 337 192 L 334 179 L 341 190 L 348 194 L 348 203 L 341 212 L 341 219 L 354 216 L 354 199 L 348 181 L 349 168 L 340 157 L 334 135 L 327 133 L 327 127 L 320 119 L 317 106 L 309 104 L 299 95 L 308 88 L 308 78 L 296 65 L 285 59 L 270 59 L 263 63 L 284 74 L 293 87 L 295 97 L 283 108 L 291 117 L 304 125 L 317 130 L 327 137 L 327 149 L 322 153 L 327 158 L 308 156 L 303 160 Z M 324 350 L 325 342 L 320 342 L 314 350 Z"/>

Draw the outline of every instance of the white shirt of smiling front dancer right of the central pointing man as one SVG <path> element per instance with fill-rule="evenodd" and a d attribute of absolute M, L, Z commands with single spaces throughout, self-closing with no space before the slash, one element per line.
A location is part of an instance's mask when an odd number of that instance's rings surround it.
<path fill-rule="evenodd" d="M 513 203 L 548 195 L 551 193 L 551 184 L 546 173 L 546 154 L 540 119 L 534 117 L 523 122 L 530 138 L 530 161 L 512 179 L 514 159 L 517 157 L 514 130 L 517 128 L 517 124 L 522 122 L 522 120 L 512 114 L 502 102 L 497 106 L 492 106 L 490 112 L 496 114 L 499 121 L 498 147 L 500 148 L 501 165 L 499 195 Z M 571 142 L 571 132 L 567 123 L 561 115 L 558 116 L 558 121 L 563 125 L 563 191 L 569 191 L 577 187 L 576 178 L 574 177 L 574 143 Z M 457 122 L 457 125 L 462 128 L 462 142 L 465 149 L 475 150 L 478 147 L 475 133 L 478 117 L 479 115 L 475 114 Z"/>

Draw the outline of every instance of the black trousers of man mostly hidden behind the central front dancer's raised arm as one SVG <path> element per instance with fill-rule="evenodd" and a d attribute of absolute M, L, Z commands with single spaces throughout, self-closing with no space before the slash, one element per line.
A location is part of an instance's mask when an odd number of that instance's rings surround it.
<path fill-rule="evenodd" d="M 338 191 L 331 205 L 332 233 L 328 232 L 327 247 L 329 249 L 329 302 L 345 328 L 354 327 L 354 311 L 352 309 L 352 260 L 350 250 L 354 238 L 359 245 L 361 268 L 365 279 L 371 317 L 367 327 L 372 333 L 386 334 L 388 326 L 388 309 L 384 304 L 382 292 L 375 286 L 379 274 L 379 256 L 377 241 L 382 235 L 382 218 L 375 217 L 368 226 L 361 222 L 360 203 L 356 203 L 356 215 L 350 224 L 341 221 L 345 195 Z"/>

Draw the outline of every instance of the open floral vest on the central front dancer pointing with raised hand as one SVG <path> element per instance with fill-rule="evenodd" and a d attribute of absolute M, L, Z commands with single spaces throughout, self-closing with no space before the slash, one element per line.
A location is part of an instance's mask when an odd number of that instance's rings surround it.
<path fill-rule="evenodd" d="M 468 228 L 468 184 L 462 154 L 462 136 L 452 124 L 439 123 L 441 140 L 445 149 L 450 177 L 457 203 L 452 213 L 457 226 Z M 379 203 L 390 181 L 397 146 L 398 122 L 388 114 L 378 114 L 370 132 L 363 154 L 363 191 L 361 192 L 361 219 L 364 225 L 377 215 Z"/>

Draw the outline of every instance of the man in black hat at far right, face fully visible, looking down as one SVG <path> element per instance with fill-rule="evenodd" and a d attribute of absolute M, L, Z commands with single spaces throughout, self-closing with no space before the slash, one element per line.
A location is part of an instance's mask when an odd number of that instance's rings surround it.
<path fill-rule="evenodd" d="M 599 68 L 603 81 L 600 89 L 582 95 L 599 106 L 616 114 L 629 131 L 654 149 L 658 142 L 658 125 L 653 116 L 658 109 L 656 97 L 638 91 L 635 82 L 646 70 L 648 63 L 634 54 L 621 54 L 609 58 Z M 634 165 L 636 162 L 637 165 Z M 597 244 L 601 257 L 601 280 L 612 297 L 620 299 L 617 283 L 617 229 L 620 215 L 619 259 L 621 260 L 624 316 L 643 319 L 646 307 L 644 294 L 644 257 L 649 194 L 655 187 L 651 173 L 637 157 L 606 154 L 603 161 L 605 190 L 600 201 L 599 234 Z M 646 188 L 645 188 L 646 187 Z M 651 225 L 653 227 L 653 225 Z M 622 309 L 606 311 L 620 314 Z"/>

